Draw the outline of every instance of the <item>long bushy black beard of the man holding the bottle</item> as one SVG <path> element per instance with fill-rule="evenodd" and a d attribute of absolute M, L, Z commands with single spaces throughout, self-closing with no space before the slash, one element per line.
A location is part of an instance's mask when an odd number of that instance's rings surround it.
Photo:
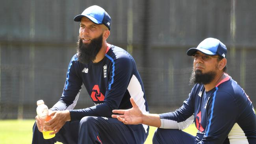
<path fill-rule="evenodd" d="M 87 64 L 90 61 L 94 61 L 96 59 L 96 55 L 100 51 L 102 47 L 102 35 L 96 37 L 95 39 L 91 39 L 89 44 L 84 44 L 82 39 L 78 37 L 76 50 L 78 52 L 78 61 Z"/>

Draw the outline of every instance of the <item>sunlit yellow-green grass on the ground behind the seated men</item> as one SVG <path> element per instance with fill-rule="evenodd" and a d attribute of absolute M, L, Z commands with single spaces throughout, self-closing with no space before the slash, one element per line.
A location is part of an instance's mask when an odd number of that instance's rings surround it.
<path fill-rule="evenodd" d="M 0 120 L 0 143 L 1 144 L 31 144 L 32 126 L 35 120 Z M 150 127 L 148 138 L 145 144 L 152 144 L 152 137 L 156 127 Z M 187 133 L 195 135 L 197 129 L 192 124 L 187 129 Z M 62 144 L 57 142 L 56 144 Z"/>

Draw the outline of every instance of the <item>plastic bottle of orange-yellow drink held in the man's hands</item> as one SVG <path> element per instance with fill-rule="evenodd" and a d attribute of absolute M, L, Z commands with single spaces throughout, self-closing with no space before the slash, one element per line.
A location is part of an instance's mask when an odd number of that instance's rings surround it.
<path fill-rule="evenodd" d="M 37 115 L 39 119 L 41 120 L 41 124 L 44 124 L 44 122 L 52 119 L 50 116 L 48 116 L 49 110 L 48 107 L 45 105 L 45 102 L 43 100 L 38 100 L 37 101 Z M 53 131 L 44 131 L 43 130 L 43 137 L 45 139 L 50 139 L 55 137 L 55 134 L 50 135 Z"/>

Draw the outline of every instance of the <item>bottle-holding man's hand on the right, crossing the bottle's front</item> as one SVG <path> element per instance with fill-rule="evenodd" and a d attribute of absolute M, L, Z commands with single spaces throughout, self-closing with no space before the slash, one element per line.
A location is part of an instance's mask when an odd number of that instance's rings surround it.
<path fill-rule="evenodd" d="M 61 127 L 63 127 L 67 121 L 70 121 L 69 110 L 53 111 L 49 116 L 52 116 L 52 119 L 45 122 L 43 129 L 45 131 L 54 131 L 50 133 L 50 135 L 58 133 Z"/>

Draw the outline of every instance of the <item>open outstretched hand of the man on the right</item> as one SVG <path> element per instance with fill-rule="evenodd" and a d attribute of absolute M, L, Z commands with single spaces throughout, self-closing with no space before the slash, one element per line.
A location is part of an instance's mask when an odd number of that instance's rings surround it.
<path fill-rule="evenodd" d="M 134 102 L 133 98 L 130 98 L 132 103 L 131 109 L 126 110 L 113 110 L 113 113 L 119 114 L 112 114 L 113 118 L 117 118 L 120 122 L 124 124 L 142 124 L 143 123 L 143 113 L 139 109 L 138 105 Z"/>

